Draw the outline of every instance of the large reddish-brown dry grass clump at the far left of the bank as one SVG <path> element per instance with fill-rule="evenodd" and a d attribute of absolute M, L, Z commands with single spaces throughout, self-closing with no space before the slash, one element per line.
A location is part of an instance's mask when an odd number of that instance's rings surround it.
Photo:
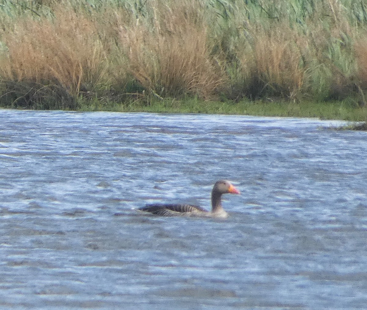
<path fill-rule="evenodd" d="M 57 9 L 55 16 L 54 22 L 20 20 L 3 34 L 8 56 L 0 64 L 1 79 L 32 87 L 57 85 L 72 97 L 98 89 L 106 63 L 95 25 L 70 7 Z"/>

